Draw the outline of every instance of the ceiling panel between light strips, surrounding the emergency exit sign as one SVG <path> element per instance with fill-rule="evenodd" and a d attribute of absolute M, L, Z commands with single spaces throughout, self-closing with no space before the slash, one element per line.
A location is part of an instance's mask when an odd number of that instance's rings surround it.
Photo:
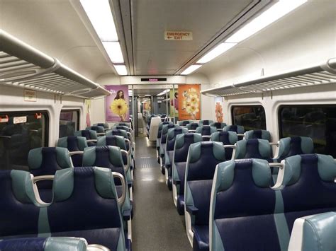
<path fill-rule="evenodd" d="M 133 0 L 135 71 L 172 74 L 252 0 Z M 193 40 L 164 40 L 164 31 L 191 31 Z"/>

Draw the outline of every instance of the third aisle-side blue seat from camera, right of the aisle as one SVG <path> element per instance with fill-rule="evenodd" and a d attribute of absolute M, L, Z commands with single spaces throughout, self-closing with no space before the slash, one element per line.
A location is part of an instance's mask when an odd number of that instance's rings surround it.
<path fill-rule="evenodd" d="M 175 139 L 174 156 L 172 161 L 172 186 L 174 204 L 179 215 L 184 215 L 184 177 L 186 173 L 186 158 L 189 146 L 201 142 L 201 134 L 178 134 Z"/>

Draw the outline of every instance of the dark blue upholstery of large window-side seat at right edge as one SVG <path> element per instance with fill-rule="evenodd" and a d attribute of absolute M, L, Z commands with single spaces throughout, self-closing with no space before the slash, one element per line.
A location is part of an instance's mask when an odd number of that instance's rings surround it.
<path fill-rule="evenodd" d="M 322 170 L 319 168 L 321 157 L 318 154 L 301 155 L 298 165 L 294 166 L 291 160 L 296 158 L 300 156 L 286 158 L 285 171 L 291 166 L 293 173 L 298 174 L 295 175 L 297 180 L 290 182 L 281 190 L 290 233 L 296 218 L 336 211 L 336 183 L 321 178 Z M 334 163 L 327 168 L 334 170 L 336 165 Z"/>

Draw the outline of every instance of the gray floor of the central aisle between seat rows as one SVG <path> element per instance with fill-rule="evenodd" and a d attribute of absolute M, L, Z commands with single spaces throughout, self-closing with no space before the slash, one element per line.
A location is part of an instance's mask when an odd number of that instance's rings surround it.
<path fill-rule="evenodd" d="M 177 214 L 156 161 L 155 146 L 145 137 L 136 139 L 135 161 L 133 250 L 192 250 L 184 216 Z"/>

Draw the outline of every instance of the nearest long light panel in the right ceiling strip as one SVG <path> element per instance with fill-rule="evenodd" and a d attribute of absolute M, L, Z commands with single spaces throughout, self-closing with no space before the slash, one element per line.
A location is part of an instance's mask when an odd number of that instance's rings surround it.
<path fill-rule="evenodd" d="M 254 18 L 250 23 L 243 26 L 240 30 L 230 36 L 225 42 L 241 42 L 247 39 L 259 30 L 267 27 L 279 18 L 285 16 L 287 13 L 293 11 L 298 6 L 306 3 L 307 0 L 280 0 L 271 8 L 264 11 L 262 14 Z"/>

